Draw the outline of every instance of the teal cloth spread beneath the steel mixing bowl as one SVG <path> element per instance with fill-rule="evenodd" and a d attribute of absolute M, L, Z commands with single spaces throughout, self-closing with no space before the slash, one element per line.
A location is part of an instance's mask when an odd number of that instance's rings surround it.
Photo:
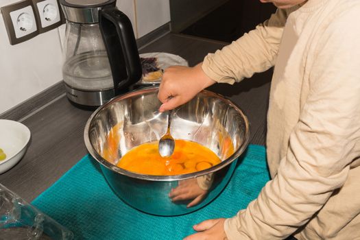
<path fill-rule="evenodd" d="M 98 163 L 86 155 L 32 204 L 72 230 L 75 239 L 183 239 L 194 233 L 194 224 L 232 217 L 246 208 L 267 181 L 265 147 L 249 145 L 213 202 L 187 215 L 159 217 L 123 203 L 108 187 Z"/>

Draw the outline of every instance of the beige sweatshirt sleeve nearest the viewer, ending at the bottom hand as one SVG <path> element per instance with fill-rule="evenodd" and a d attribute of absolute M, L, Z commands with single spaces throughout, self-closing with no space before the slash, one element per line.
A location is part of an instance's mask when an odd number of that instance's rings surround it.
<path fill-rule="evenodd" d="M 360 21 L 359 12 L 344 14 L 317 43 L 309 72 L 311 90 L 287 154 L 259 197 L 226 219 L 228 239 L 284 239 L 346 181 L 360 154 L 354 150 L 360 138 L 360 33 L 348 27 L 354 19 Z"/>

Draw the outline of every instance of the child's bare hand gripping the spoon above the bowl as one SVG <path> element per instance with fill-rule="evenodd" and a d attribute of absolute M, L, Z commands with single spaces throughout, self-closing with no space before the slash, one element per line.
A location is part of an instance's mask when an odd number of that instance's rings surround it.
<path fill-rule="evenodd" d="M 215 81 L 202 71 L 201 64 L 195 67 L 172 66 L 165 69 L 158 92 L 158 99 L 163 103 L 159 111 L 165 112 L 186 103 L 214 83 Z"/>

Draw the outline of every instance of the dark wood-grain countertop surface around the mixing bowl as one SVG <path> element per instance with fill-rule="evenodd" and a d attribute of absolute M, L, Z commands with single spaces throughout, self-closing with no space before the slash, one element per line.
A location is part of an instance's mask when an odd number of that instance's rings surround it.
<path fill-rule="evenodd" d="M 207 53 L 227 43 L 179 34 L 166 34 L 142 47 L 141 53 L 163 51 L 189 61 L 193 66 Z M 272 72 L 256 74 L 233 86 L 216 84 L 208 88 L 231 99 L 248 116 L 251 126 L 250 143 L 265 145 L 269 81 Z M 0 175 L 1 184 L 27 202 L 56 182 L 88 152 L 84 145 L 84 126 L 92 111 L 75 108 L 65 93 L 21 121 L 32 133 L 23 159 Z"/>

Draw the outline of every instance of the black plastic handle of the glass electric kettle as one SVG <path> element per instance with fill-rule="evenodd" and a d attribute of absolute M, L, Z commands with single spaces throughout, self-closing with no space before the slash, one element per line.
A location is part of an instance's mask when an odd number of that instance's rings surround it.
<path fill-rule="evenodd" d="M 115 6 L 99 12 L 99 27 L 110 62 L 115 95 L 140 80 L 142 67 L 134 31 L 128 16 Z"/>

